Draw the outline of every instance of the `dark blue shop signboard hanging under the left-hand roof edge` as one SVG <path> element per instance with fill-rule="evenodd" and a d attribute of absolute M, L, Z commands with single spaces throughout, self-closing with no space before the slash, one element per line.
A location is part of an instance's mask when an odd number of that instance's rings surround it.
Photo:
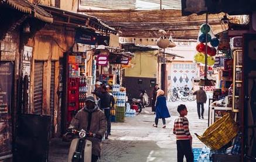
<path fill-rule="evenodd" d="M 75 42 L 90 45 L 109 46 L 110 37 L 84 29 L 76 29 Z"/>

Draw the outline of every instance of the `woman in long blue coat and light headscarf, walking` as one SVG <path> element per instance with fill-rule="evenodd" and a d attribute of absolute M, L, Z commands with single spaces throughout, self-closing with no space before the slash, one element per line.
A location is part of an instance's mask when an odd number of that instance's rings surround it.
<path fill-rule="evenodd" d="M 162 119 L 163 128 L 166 128 L 165 118 L 170 117 L 170 113 L 166 106 L 166 98 L 164 94 L 165 92 L 162 89 L 158 89 L 156 94 L 156 105 L 155 105 L 156 117 L 155 117 L 155 124 L 153 124 L 154 127 L 158 127 L 158 119 Z"/>

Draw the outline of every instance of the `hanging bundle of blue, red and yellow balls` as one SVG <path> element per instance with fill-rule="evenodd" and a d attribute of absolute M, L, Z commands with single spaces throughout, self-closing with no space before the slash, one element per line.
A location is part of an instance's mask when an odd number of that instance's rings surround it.
<path fill-rule="evenodd" d="M 207 37 L 207 44 L 206 44 L 206 37 Z M 209 55 L 207 57 L 207 65 L 213 66 L 215 59 L 214 56 L 217 53 L 217 47 L 219 46 L 219 39 L 217 39 L 214 34 L 213 30 L 211 29 L 210 25 L 204 23 L 200 26 L 200 31 L 197 39 L 197 46 L 196 50 L 198 53 L 194 56 L 194 61 L 196 63 L 205 63 L 205 54 L 206 54 L 206 48 L 207 48 L 207 54 Z"/>

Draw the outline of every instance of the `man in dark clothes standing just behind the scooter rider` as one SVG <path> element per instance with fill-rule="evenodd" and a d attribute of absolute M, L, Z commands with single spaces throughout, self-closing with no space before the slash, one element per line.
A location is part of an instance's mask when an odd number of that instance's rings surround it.
<path fill-rule="evenodd" d="M 101 92 L 95 92 L 95 95 L 100 98 L 100 108 L 104 110 L 105 116 L 107 118 L 107 136 L 105 136 L 106 139 L 108 139 L 108 135 L 110 135 L 111 130 L 111 116 L 110 116 L 110 94 L 107 92 L 107 87 L 105 84 L 101 85 Z"/>

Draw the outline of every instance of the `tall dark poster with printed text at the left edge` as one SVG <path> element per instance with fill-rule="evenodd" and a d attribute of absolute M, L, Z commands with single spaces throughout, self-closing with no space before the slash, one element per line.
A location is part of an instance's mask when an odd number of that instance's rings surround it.
<path fill-rule="evenodd" d="M 13 63 L 0 64 L 0 157 L 12 152 L 11 94 L 13 86 Z"/>

